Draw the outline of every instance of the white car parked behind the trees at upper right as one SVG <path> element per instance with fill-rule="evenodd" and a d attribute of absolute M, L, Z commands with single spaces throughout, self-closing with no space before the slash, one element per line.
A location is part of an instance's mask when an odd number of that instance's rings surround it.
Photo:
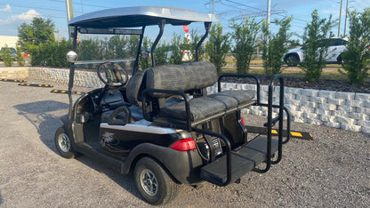
<path fill-rule="evenodd" d="M 328 64 L 342 63 L 342 52 L 347 49 L 347 40 L 343 38 L 329 38 L 320 41 L 321 44 L 328 44 L 326 52 L 326 62 Z M 302 47 L 290 49 L 283 58 L 289 67 L 296 67 L 303 60 Z"/>

